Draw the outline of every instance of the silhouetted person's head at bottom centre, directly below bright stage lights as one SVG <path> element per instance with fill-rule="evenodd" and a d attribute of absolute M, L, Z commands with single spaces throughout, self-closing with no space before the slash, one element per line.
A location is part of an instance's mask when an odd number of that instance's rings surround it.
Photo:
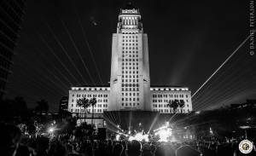
<path fill-rule="evenodd" d="M 127 156 L 139 156 L 141 154 L 142 144 L 133 140 L 128 142 L 126 145 L 126 155 Z"/>

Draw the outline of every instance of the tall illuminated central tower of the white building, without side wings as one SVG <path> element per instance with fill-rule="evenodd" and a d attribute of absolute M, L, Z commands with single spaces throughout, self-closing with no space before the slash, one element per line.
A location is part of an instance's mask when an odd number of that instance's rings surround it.
<path fill-rule="evenodd" d="M 148 36 L 139 9 L 120 9 L 113 33 L 109 111 L 151 110 Z"/>

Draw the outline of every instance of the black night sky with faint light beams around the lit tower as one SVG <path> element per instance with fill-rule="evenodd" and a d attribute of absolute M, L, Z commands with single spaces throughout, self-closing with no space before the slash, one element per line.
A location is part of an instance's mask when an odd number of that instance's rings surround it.
<path fill-rule="evenodd" d="M 71 86 L 108 84 L 112 33 L 125 3 L 27 0 L 6 97 L 24 96 L 29 107 L 45 99 L 50 110 L 57 111 Z M 148 33 L 153 85 L 181 85 L 195 93 L 249 34 L 249 3 L 244 0 L 133 4 L 140 9 Z M 247 42 L 194 96 L 195 110 L 255 98 L 253 62 L 255 55 L 249 54 Z"/>

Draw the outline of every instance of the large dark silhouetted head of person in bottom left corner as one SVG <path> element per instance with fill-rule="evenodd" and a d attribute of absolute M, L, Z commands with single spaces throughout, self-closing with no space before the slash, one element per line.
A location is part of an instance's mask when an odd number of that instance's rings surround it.
<path fill-rule="evenodd" d="M 20 143 L 21 132 L 13 124 L 0 124 L 0 155 L 15 156 Z"/>

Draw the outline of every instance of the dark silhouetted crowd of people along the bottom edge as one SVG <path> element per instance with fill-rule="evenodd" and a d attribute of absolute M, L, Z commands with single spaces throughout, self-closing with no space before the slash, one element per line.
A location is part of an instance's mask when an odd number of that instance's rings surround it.
<path fill-rule="evenodd" d="M 13 124 L 0 125 L 1 155 L 6 156 L 194 156 L 242 155 L 236 142 L 138 142 L 88 139 L 61 133 L 26 136 Z M 247 155 L 256 155 L 253 152 Z"/>

